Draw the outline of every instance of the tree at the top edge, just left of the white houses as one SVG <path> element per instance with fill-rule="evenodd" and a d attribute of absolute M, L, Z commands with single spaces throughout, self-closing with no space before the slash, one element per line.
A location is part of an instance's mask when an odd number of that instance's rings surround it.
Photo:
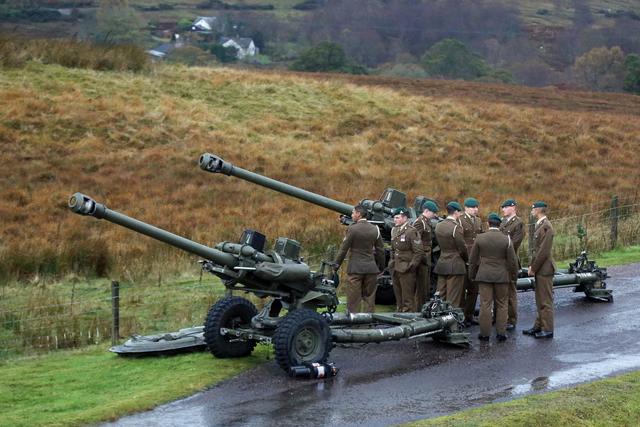
<path fill-rule="evenodd" d="M 96 12 L 96 40 L 106 43 L 136 43 L 142 24 L 128 0 L 100 0 Z"/>

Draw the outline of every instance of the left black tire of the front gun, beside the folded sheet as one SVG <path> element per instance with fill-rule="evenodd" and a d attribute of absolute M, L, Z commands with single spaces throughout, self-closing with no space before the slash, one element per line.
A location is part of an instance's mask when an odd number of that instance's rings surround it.
<path fill-rule="evenodd" d="M 219 359 L 249 356 L 255 340 L 229 342 L 229 337 L 220 335 L 220 328 L 248 327 L 256 314 L 251 301 L 241 297 L 226 297 L 212 305 L 204 323 L 204 341 L 211 354 Z"/>

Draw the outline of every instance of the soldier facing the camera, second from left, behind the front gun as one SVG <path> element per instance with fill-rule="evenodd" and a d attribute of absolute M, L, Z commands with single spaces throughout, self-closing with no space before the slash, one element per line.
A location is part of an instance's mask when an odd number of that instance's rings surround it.
<path fill-rule="evenodd" d="M 416 270 L 424 251 L 418 232 L 409 225 L 409 211 L 406 208 L 397 208 L 393 213 L 395 227 L 391 230 L 389 269 L 393 270 L 393 292 L 398 311 L 410 312 L 416 306 Z"/>

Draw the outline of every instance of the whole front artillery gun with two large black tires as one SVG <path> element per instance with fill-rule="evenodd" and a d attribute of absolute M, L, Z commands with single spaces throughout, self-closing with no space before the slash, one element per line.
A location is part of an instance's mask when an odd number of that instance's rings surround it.
<path fill-rule="evenodd" d="M 228 292 L 205 319 L 204 339 L 215 357 L 248 356 L 258 342 L 271 343 L 278 364 L 289 371 L 325 363 L 334 343 L 432 337 L 468 345 L 468 334 L 460 332 L 462 311 L 437 297 L 419 313 L 335 313 L 335 284 L 324 274 L 329 263 L 311 271 L 295 240 L 280 237 L 273 250 L 266 251 L 265 236 L 247 230 L 239 243 L 221 242 L 211 248 L 111 210 L 81 193 L 72 195 L 68 206 L 79 215 L 107 220 L 203 258 L 202 268 L 218 276 Z M 269 299 L 258 312 L 248 299 L 233 296 L 234 291 Z"/>

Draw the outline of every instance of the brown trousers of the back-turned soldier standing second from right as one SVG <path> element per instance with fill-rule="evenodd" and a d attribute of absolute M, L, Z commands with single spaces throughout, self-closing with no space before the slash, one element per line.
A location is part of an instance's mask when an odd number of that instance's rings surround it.
<path fill-rule="evenodd" d="M 509 301 L 509 283 L 478 283 L 480 293 L 480 335 L 491 335 L 493 312 L 496 315 L 496 333 L 507 333 L 507 304 Z"/>

